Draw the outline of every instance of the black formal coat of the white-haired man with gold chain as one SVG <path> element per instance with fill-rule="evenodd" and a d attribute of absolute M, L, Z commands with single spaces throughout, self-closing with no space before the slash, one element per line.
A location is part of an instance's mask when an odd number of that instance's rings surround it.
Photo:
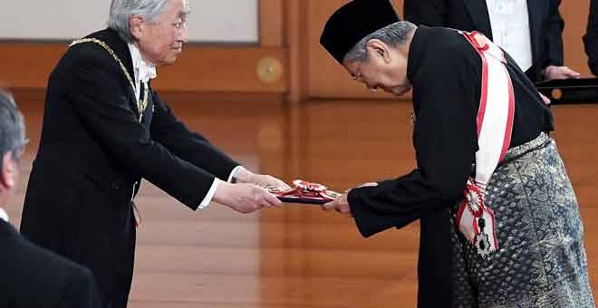
<path fill-rule="evenodd" d="M 134 78 L 116 32 L 89 37 L 108 44 Z M 133 270 L 135 183 L 145 178 L 196 209 L 214 178 L 227 180 L 238 165 L 189 131 L 156 91 L 139 118 L 135 92 L 110 53 L 96 43 L 66 51 L 49 78 L 21 232 L 89 267 L 106 300 L 126 289 L 115 285 Z"/>

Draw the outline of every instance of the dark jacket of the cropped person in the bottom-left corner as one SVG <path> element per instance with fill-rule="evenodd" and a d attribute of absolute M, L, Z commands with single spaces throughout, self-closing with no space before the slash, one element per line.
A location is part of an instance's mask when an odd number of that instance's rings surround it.
<path fill-rule="evenodd" d="M 101 307 L 88 269 L 31 244 L 1 219 L 0 252 L 0 307 Z"/>

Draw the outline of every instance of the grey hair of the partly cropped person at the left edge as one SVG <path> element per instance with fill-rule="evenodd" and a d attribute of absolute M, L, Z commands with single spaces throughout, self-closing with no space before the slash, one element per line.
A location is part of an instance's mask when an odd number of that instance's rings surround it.
<path fill-rule="evenodd" d="M 24 139 L 24 119 L 13 96 L 0 89 L 0 166 L 8 152 L 18 158 L 27 141 Z"/>

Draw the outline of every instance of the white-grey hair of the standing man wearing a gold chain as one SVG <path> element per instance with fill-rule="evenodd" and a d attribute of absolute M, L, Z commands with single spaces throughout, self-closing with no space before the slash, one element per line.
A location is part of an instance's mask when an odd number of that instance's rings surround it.
<path fill-rule="evenodd" d="M 169 0 L 112 0 L 108 27 L 118 32 L 125 42 L 132 43 L 130 17 L 140 15 L 148 18 L 149 22 L 155 22 L 168 2 Z"/>

